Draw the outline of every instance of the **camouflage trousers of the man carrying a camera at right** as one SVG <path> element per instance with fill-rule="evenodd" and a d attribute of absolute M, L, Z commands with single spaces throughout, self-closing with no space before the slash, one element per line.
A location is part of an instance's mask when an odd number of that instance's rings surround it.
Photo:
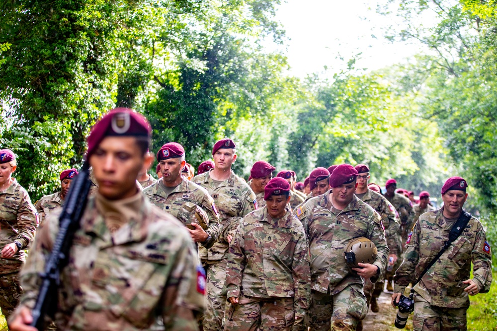
<path fill-rule="evenodd" d="M 414 296 L 414 331 L 466 331 L 467 308 L 430 305 L 420 295 Z"/>

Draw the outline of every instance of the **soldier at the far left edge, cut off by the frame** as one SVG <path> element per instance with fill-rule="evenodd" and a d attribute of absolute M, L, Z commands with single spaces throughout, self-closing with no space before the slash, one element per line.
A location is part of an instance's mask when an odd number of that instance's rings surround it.
<path fill-rule="evenodd" d="M 36 209 L 26 190 L 12 174 L 17 159 L 10 149 L 0 149 L 0 309 L 8 319 L 19 303 L 22 287 L 19 270 L 26 261 L 25 249 L 38 226 Z"/>

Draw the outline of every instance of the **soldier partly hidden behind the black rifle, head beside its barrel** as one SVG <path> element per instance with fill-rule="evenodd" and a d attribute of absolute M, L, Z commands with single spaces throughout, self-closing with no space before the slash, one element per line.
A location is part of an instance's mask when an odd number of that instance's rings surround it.
<path fill-rule="evenodd" d="M 36 201 L 34 206 L 38 211 L 40 226 L 43 225 L 43 221 L 52 211 L 59 209 L 64 205 L 64 199 L 66 198 L 69 188 L 71 187 L 71 182 L 76 175 L 78 175 L 78 170 L 75 168 L 64 170 L 59 176 L 59 179 L 61 180 L 61 190 L 54 194 L 44 196 Z"/>

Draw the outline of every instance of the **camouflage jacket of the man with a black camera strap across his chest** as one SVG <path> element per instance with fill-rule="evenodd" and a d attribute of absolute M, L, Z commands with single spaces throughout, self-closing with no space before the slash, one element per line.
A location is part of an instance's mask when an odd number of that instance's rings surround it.
<path fill-rule="evenodd" d="M 395 293 L 404 293 L 406 286 L 417 279 L 448 239 L 454 222 L 447 223 L 442 212 L 443 208 L 428 211 L 414 225 L 404 261 L 395 272 Z M 492 254 L 485 230 L 474 217 L 414 290 L 433 306 L 467 308 L 469 298 L 464 288 L 468 285 L 462 282 L 470 279 L 471 263 L 473 280 L 480 293 L 487 293 L 492 283 Z"/>

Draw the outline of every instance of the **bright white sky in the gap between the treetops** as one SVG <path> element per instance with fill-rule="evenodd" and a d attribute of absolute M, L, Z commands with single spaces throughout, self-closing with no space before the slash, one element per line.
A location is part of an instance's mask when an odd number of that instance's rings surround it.
<path fill-rule="evenodd" d="M 287 0 L 276 20 L 286 30 L 290 74 L 305 77 L 323 72 L 326 76 L 346 67 L 347 61 L 362 52 L 356 68 L 378 69 L 403 62 L 421 50 L 420 45 L 392 44 L 384 29 L 395 20 L 376 13 L 377 1 Z M 376 38 L 375 38 L 376 37 Z M 343 60 L 337 59 L 342 57 Z"/>

